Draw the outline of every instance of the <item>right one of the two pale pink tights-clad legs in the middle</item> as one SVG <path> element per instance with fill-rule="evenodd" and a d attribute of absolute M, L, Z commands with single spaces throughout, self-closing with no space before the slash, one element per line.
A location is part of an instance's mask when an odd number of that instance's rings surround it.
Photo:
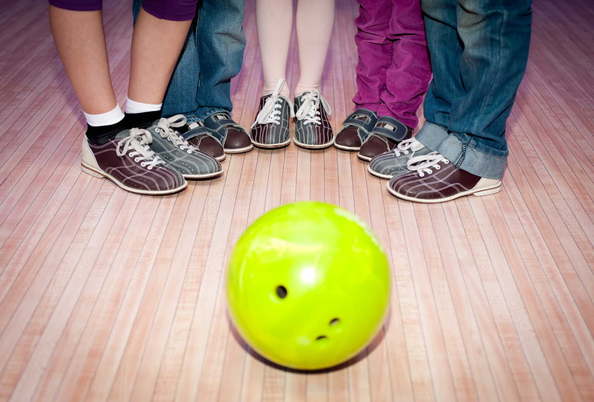
<path fill-rule="evenodd" d="M 320 90 L 334 26 L 334 0 L 299 0 L 296 24 L 300 75 L 295 96 L 299 96 Z"/>

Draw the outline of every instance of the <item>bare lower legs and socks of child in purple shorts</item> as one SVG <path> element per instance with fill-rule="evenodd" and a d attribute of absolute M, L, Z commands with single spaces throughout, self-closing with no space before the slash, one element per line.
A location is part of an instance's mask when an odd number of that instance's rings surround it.
<path fill-rule="evenodd" d="M 136 119 L 122 121 L 124 115 L 113 94 L 101 11 L 50 5 L 49 16 L 56 48 L 89 124 L 91 143 L 105 143 L 122 129 L 136 126 Z M 160 110 L 189 23 L 162 20 L 141 10 L 132 37 L 128 89 L 128 96 L 140 105 L 138 112 L 144 112 L 145 105 L 153 114 L 155 107 Z"/>

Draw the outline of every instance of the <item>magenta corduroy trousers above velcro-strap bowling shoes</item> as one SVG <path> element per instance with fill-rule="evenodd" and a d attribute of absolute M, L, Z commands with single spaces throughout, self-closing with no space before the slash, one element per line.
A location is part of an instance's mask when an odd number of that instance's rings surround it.
<path fill-rule="evenodd" d="M 416 127 L 431 80 L 419 0 L 358 0 L 357 107 Z"/>

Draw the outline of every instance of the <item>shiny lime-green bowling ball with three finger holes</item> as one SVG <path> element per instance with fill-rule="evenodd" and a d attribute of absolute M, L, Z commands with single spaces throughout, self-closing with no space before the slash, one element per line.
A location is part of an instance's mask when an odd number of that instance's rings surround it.
<path fill-rule="evenodd" d="M 255 352 L 314 370 L 349 360 L 377 335 L 390 283 L 371 229 L 349 211 L 308 201 L 248 227 L 230 257 L 226 294 L 232 322 Z"/>

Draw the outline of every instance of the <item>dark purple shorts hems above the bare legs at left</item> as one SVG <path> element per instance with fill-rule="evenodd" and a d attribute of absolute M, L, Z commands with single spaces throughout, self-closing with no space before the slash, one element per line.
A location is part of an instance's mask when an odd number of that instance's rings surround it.
<path fill-rule="evenodd" d="M 154 17 L 170 21 L 194 18 L 198 0 L 143 0 L 144 11 Z M 103 8 L 102 0 L 49 0 L 54 7 L 73 11 L 96 11 Z"/>

